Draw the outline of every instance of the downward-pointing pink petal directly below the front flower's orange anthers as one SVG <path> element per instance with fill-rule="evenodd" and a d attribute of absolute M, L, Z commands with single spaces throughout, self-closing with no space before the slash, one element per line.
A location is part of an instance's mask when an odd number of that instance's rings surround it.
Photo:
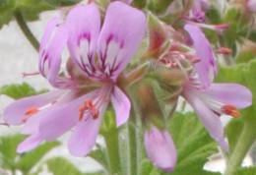
<path fill-rule="evenodd" d="M 99 116 L 94 119 L 87 116 L 87 120 L 80 122 L 69 140 L 69 150 L 75 156 L 87 155 L 96 144 L 96 137 L 107 103 L 99 107 Z"/>

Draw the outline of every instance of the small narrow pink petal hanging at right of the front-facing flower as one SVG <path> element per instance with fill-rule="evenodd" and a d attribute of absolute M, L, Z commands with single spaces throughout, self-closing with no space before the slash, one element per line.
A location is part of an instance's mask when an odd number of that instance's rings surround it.
<path fill-rule="evenodd" d="M 115 110 L 116 125 L 119 127 L 124 124 L 130 116 L 131 102 L 119 87 L 114 87 L 111 102 Z"/>

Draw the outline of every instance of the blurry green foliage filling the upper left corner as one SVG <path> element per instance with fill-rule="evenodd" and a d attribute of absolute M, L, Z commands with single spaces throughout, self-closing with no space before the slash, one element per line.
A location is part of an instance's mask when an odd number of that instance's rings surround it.
<path fill-rule="evenodd" d="M 38 19 L 39 13 L 54 10 L 61 6 L 74 5 L 81 0 L 1 0 L 0 29 L 14 19 L 16 11 L 20 11 L 27 21 Z"/>

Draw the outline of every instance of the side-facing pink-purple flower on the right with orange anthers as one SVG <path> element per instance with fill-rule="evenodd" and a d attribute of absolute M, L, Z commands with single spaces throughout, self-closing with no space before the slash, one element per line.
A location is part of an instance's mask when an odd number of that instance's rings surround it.
<path fill-rule="evenodd" d="M 212 83 L 217 69 L 210 43 L 198 27 L 186 25 L 185 29 L 188 31 L 196 54 L 201 61 L 195 65 L 195 74 L 189 77 L 183 87 L 183 96 L 194 108 L 210 135 L 220 146 L 228 150 L 220 116 L 226 114 L 238 117 L 237 108 L 251 105 L 251 91 L 236 84 Z"/>

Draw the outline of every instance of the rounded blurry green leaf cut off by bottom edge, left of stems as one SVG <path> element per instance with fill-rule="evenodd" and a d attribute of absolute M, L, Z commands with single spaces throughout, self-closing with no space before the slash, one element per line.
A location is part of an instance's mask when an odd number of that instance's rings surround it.
<path fill-rule="evenodd" d="M 102 173 L 82 173 L 64 157 L 54 157 L 46 162 L 54 175 L 102 175 Z"/>

